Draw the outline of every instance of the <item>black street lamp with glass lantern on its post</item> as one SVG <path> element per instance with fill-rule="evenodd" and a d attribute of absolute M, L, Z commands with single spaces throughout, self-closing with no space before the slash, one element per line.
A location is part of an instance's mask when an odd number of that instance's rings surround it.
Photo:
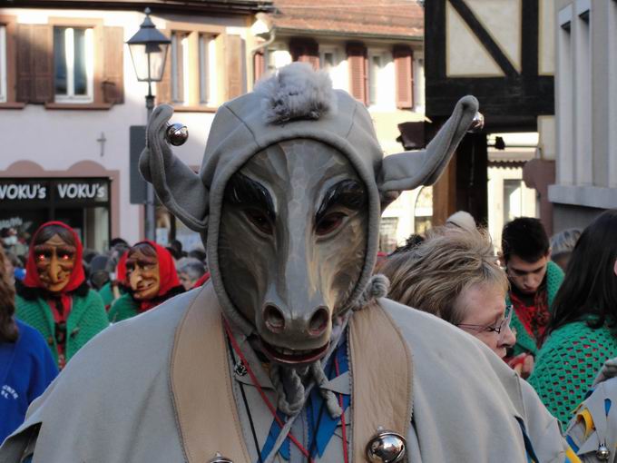
<path fill-rule="evenodd" d="M 152 109 L 154 109 L 154 96 L 152 95 L 152 82 L 161 82 L 162 74 L 165 69 L 167 49 L 171 40 L 158 31 L 150 19 L 150 8 L 144 11 L 146 17 L 139 31 L 134 34 L 126 44 L 129 45 L 131 52 L 132 66 L 139 82 L 148 83 L 148 94 L 146 95 L 146 111 L 148 114 L 147 122 L 150 122 Z M 156 239 L 156 212 L 154 204 L 154 189 L 151 183 L 146 184 L 146 223 L 145 232 L 148 240 Z"/>

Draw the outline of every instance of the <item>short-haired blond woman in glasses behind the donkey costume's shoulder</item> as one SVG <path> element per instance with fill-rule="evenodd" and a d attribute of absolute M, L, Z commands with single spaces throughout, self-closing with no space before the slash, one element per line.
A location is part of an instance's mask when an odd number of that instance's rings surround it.
<path fill-rule="evenodd" d="M 380 272 L 390 280 L 388 298 L 452 323 L 502 359 L 514 346 L 512 308 L 506 308 L 504 302 L 507 277 L 484 232 L 433 229 L 412 251 L 391 256 Z M 573 456 L 557 420 L 534 389 L 520 377 L 519 382 L 523 405 L 521 416 L 514 418 L 520 419 L 533 446 L 534 461 L 553 461 L 555 448 L 565 448 L 567 455 Z"/>

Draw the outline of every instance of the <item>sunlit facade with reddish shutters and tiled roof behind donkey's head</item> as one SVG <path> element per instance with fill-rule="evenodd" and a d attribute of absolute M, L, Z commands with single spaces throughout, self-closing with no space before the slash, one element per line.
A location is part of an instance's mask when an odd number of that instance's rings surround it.
<path fill-rule="evenodd" d="M 325 70 L 335 88 L 367 105 L 386 155 L 403 151 L 397 125 L 424 121 L 421 5 L 395 0 L 378 5 L 367 0 L 324 0 L 314 5 L 275 0 L 274 11 L 260 17 L 265 26 L 252 51 L 255 78 L 292 61 Z M 418 215 L 416 221 L 416 213 L 429 212 L 430 217 L 431 211 L 430 202 L 422 206 L 420 189 L 404 192 L 383 214 L 381 251 L 392 251 L 418 228 L 423 231 L 426 216 Z"/>

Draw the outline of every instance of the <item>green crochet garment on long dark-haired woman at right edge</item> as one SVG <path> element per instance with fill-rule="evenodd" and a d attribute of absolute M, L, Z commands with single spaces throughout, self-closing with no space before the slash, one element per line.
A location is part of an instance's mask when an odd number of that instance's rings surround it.
<path fill-rule="evenodd" d="M 565 429 L 604 361 L 615 356 L 617 338 L 607 327 L 594 330 L 585 321 L 568 323 L 544 342 L 529 383 Z"/>

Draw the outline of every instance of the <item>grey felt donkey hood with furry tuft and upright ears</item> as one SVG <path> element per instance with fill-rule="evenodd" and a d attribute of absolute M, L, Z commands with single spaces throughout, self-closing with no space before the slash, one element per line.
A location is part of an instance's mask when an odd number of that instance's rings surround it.
<path fill-rule="evenodd" d="M 454 113 L 426 150 L 389 155 L 377 142 L 370 115 L 348 93 L 333 90 L 328 74 L 309 64 L 289 64 L 255 91 L 220 106 L 211 125 L 199 173 L 182 163 L 165 141 L 171 106 L 158 106 L 146 131 L 140 158 L 143 177 L 161 202 L 206 241 L 211 280 L 225 315 L 250 334 L 252 323 L 233 307 L 219 267 L 219 226 L 223 193 L 231 175 L 272 144 L 305 138 L 326 143 L 347 156 L 365 183 L 369 223 L 363 271 L 348 308 L 365 291 L 377 257 L 381 202 L 403 190 L 436 182 L 478 109 L 473 96 L 456 103 Z"/>

